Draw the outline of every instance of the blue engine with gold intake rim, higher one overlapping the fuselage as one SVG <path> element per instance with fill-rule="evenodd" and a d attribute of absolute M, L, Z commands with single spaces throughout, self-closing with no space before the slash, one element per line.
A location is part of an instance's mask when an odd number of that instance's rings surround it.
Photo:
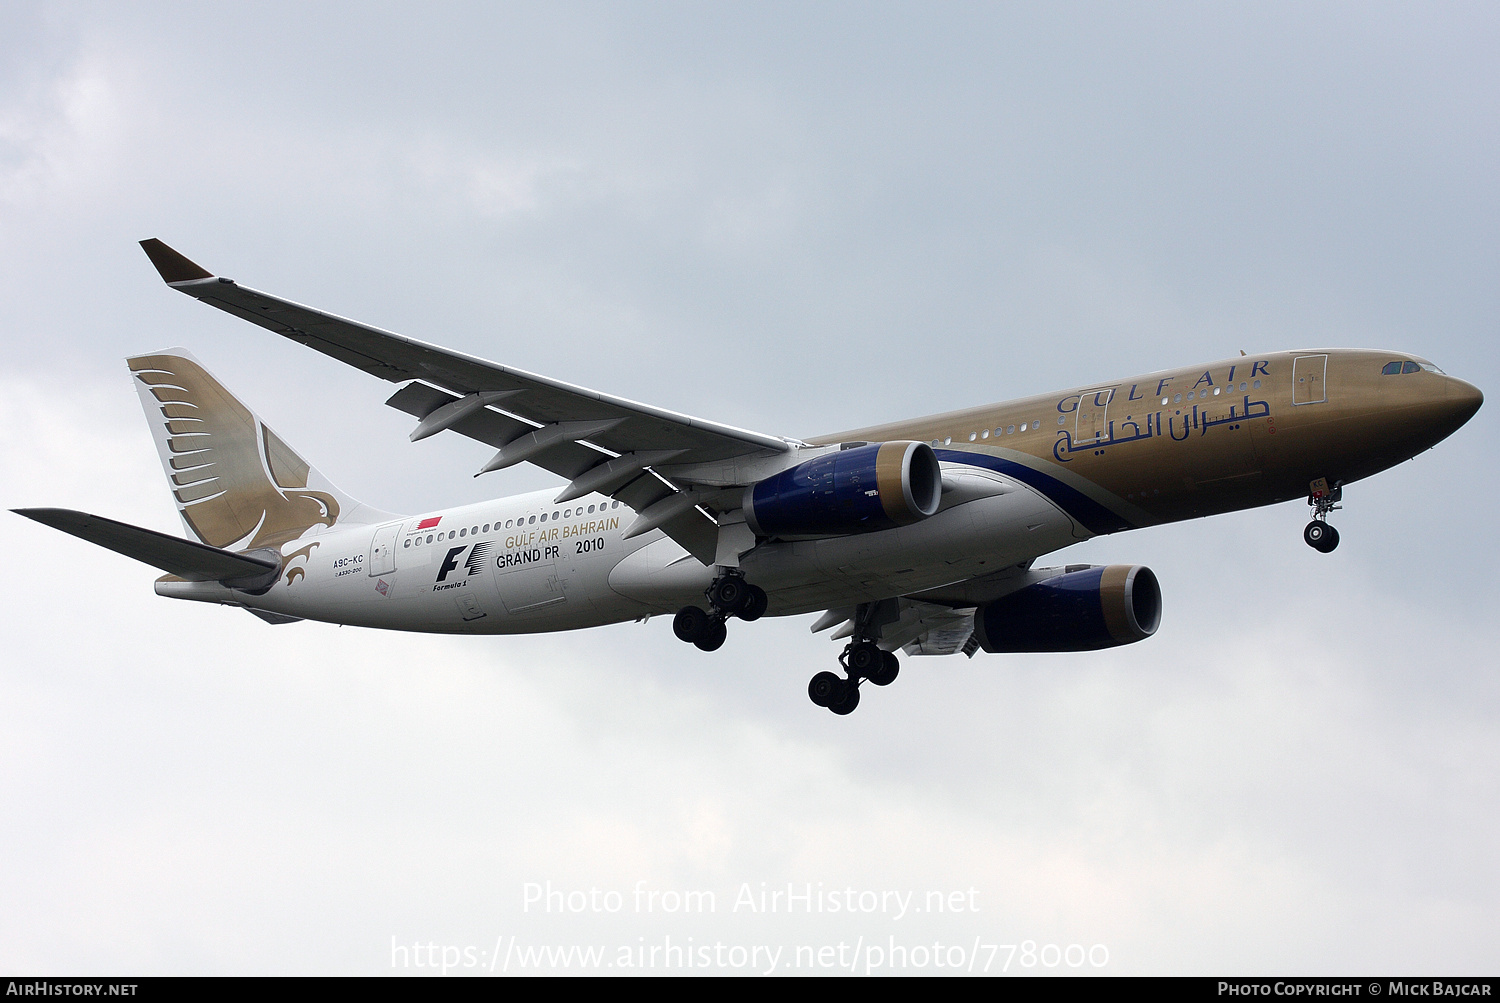
<path fill-rule="evenodd" d="M 938 511 L 942 469 L 926 442 L 873 442 L 798 463 L 746 489 L 759 537 L 840 537 L 904 526 Z"/>

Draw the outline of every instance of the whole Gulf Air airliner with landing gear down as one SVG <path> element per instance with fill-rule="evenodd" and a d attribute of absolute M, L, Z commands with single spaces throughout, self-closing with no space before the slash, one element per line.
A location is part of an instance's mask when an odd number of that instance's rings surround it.
<path fill-rule="evenodd" d="M 189 538 L 64 508 L 22 516 L 142 561 L 156 592 L 452 634 L 672 616 L 819 613 L 848 639 L 813 703 L 849 714 L 906 655 L 1082 652 L 1150 637 L 1142 565 L 1036 567 L 1082 540 L 1306 499 L 1338 546 L 1344 487 L 1431 448 L 1484 396 L 1402 352 L 1245 355 L 807 439 L 765 435 L 484 361 L 141 247 L 178 292 L 399 390 L 411 439 L 459 435 L 566 486 L 399 516 L 356 501 L 183 349 L 128 360 Z M 486 450 L 488 453 L 488 450 Z M 748 630 L 748 628 L 747 628 Z"/>

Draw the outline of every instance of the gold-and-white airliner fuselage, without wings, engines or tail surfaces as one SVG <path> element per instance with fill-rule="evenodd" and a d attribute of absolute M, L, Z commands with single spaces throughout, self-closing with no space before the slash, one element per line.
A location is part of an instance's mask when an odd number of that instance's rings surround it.
<path fill-rule="evenodd" d="M 1394 367 L 1394 372 L 1392 372 Z M 1406 370 L 1406 372 L 1402 372 Z M 1308 496 L 1430 448 L 1482 396 L 1410 355 L 1317 349 L 1232 358 L 986 408 L 820 436 L 788 463 L 850 442 L 912 439 L 944 469 L 939 511 L 914 525 L 762 541 L 741 570 L 790 615 L 958 588 L 1092 535 Z M 164 579 L 178 598 L 340 624 L 440 633 L 570 630 L 700 600 L 714 568 L 603 495 L 537 492 L 297 541 L 261 595 Z M 994 580 L 988 592 L 966 582 Z M 996 577 L 998 576 L 998 577 Z M 962 592 L 968 588 L 969 592 Z"/>

